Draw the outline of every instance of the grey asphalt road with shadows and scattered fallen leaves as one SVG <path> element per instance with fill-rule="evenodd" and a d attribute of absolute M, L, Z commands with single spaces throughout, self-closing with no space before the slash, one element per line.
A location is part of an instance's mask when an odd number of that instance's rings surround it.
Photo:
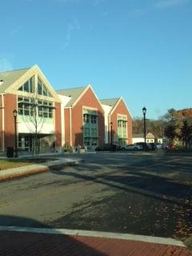
<path fill-rule="evenodd" d="M 125 152 L 79 156 L 85 162 L 78 166 L 1 182 L 0 226 L 172 238 L 192 234 L 190 156 Z"/>

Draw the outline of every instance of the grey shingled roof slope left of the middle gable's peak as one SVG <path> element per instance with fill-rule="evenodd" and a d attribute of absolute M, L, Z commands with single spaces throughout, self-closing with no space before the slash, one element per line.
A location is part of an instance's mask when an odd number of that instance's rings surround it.
<path fill-rule="evenodd" d="M 66 107 L 70 107 L 74 105 L 74 102 L 81 96 L 84 90 L 86 90 L 87 86 L 70 88 L 65 90 L 56 90 L 57 94 L 61 94 L 63 96 L 70 97 L 70 101 L 66 104 Z"/>

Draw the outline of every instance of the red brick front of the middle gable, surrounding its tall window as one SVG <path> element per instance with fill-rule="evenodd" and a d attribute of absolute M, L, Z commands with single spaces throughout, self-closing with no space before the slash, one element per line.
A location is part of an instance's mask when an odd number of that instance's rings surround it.
<path fill-rule="evenodd" d="M 72 145 L 77 146 L 78 143 L 83 145 L 82 106 L 98 109 L 98 145 L 102 146 L 105 136 L 104 113 L 102 106 L 99 104 L 98 99 L 95 98 L 91 89 L 86 91 L 77 105 L 72 109 Z"/>

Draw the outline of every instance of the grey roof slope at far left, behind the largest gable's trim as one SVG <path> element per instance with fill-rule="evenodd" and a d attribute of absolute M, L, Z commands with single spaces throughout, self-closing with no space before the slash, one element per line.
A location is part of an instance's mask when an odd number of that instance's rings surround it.
<path fill-rule="evenodd" d="M 10 85 L 16 82 L 18 78 L 21 78 L 23 74 L 26 74 L 28 70 L 30 68 L 0 72 L 0 81 L 2 81 L 0 83 L 0 93 L 3 94 Z"/>

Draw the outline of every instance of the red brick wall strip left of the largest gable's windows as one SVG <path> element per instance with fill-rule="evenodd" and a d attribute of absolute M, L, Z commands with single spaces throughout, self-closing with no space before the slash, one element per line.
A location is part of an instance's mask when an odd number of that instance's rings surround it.
<path fill-rule="evenodd" d="M 14 146 L 14 114 L 17 110 L 17 96 L 6 94 L 5 96 L 5 148 Z"/>

